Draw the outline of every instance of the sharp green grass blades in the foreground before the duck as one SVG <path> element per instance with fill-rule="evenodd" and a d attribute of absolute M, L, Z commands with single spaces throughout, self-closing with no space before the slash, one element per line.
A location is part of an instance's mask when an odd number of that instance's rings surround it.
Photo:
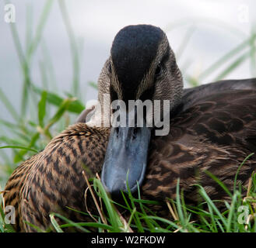
<path fill-rule="evenodd" d="M 219 184 L 225 187 L 221 182 Z M 98 215 L 92 216 L 95 221 L 75 223 L 58 213 L 51 213 L 52 227 L 46 232 L 65 232 L 68 227 L 75 227 L 80 232 L 90 232 L 89 228 L 94 228 L 96 232 L 256 232 L 256 174 L 251 177 L 247 196 L 242 198 L 238 187 L 231 195 L 231 202 L 225 202 L 226 209 L 222 211 L 216 206 L 216 201 L 209 198 L 205 189 L 201 185 L 197 186 L 202 201 L 196 206 L 186 205 L 177 181 L 176 198 L 165 202 L 166 208 L 170 209 L 170 219 L 163 219 L 150 210 L 150 205 L 163 203 L 142 200 L 140 194 L 135 198 L 128 192 L 123 194 L 124 205 L 121 205 L 111 200 L 99 178 L 94 178 L 94 202 L 98 209 Z M 126 219 L 120 214 L 124 211 L 125 216 L 128 216 Z M 2 209 L 0 212 L 0 232 L 13 232 L 12 226 L 4 222 Z M 82 214 L 90 215 L 89 212 Z M 58 225 L 56 218 L 62 219 L 65 224 Z M 35 228 L 38 232 L 45 232 Z"/>

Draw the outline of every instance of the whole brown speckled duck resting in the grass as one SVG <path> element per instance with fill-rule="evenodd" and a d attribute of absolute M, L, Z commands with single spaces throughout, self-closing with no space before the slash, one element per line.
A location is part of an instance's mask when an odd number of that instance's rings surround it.
<path fill-rule="evenodd" d="M 183 84 L 162 29 L 146 24 L 121 29 L 98 79 L 97 104 L 9 177 L 3 198 L 5 205 L 16 209 L 16 231 L 37 232 L 34 226 L 47 229 L 51 212 L 72 221 L 91 221 L 79 213 L 86 211 L 86 204 L 94 205 L 89 197 L 85 203 L 85 170 L 92 177 L 100 174 L 104 188 L 115 197 L 128 188 L 135 194 L 139 187 L 142 198 L 164 202 L 176 197 L 179 181 L 188 201 L 198 201 L 195 184 L 201 184 L 212 199 L 228 200 L 229 195 L 205 171 L 233 191 L 240 164 L 255 152 L 256 78 L 185 89 Z M 106 106 L 131 100 L 150 100 L 154 108 L 158 100 L 159 112 L 167 100 L 169 132 L 156 135 L 161 127 L 157 122 L 147 126 L 144 114 L 138 115 L 134 126 L 114 125 L 111 119 L 121 108 Z M 127 105 L 121 111 L 126 122 Z M 92 115 L 87 119 L 89 112 Z M 160 119 L 164 117 L 160 114 Z M 255 169 L 252 155 L 237 175 L 242 194 Z"/>

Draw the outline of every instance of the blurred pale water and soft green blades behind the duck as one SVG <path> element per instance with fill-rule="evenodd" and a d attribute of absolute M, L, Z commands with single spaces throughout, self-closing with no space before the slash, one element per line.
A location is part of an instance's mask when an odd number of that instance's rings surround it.
<path fill-rule="evenodd" d="M 44 149 L 96 99 L 114 36 L 131 24 L 167 33 L 186 88 L 256 77 L 253 0 L 2 1 L 2 188 L 21 161 Z"/>

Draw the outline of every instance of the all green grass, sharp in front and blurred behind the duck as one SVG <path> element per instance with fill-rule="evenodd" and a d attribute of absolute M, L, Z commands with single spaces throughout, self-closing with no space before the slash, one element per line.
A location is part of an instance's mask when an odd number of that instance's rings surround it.
<path fill-rule="evenodd" d="M 45 1 L 37 22 L 33 20 L 31 8 L 28 6 L 26 41 L 24 45 L 19 39 L 16 24 L 10 24 L 12 39 L 23 75 L 23 91 L 20 108 L 16 109 L 12 105 L 11 98 L 5 95 L 0 88 L 0 102 L 12 116 L 12 121 L 3 119 L 0 116 L 0 126 L 2 126 L 0 131 L 0 185 L 2 188 L 12 171 L 23 160 L 44 149 L 44 146 L 52 137 L 60 133 L 69 124 L 72 124 L 74 116 L 78 115 L 86 107 L 80 100 L 82 95 L 80 95 L 79 90 L 79 51 L 81 48 L 79 47 L 79 40 L 72 29 L 65 1 L 58 1 L 58 5 L 68 33 L 73 77 L 70 84 L 70 93 L 65 94 L 57 86 L 51 54 L 48 53 L 47 44 L 44 42 L 44 29 L 47 24 L 47 17 L 51 13 L 52 5 L 54 5 L 53 0 Z M 35 26 L 32 23 L 36 23 Z M 193 23 L 191 25 L 190 22 L 182 22 L 182 25 L 188 25 L 188 33 L 185 34 L 184 41 L 177 50 L 177 60 L 183 56 L 185 47 L 188 46 L 197 24 Z M 177 27 L 178 24 L 174 26 Z M 215 79 L 220 80 L 236 70 L 245 61 L 250 62 L 251 76 L 255 76 L 255 39 L 256 34 L 251 32 L 251 36 L 247 40 L 224 54 L 223 57 L 216 60 L 205 71 L 198 74 L 197 77 L 187 73 L 188 64 L 181 65 L 184 78 L 191 86 L 200 84 L 205 78 L 212 77 L 212 75 L 216 75 Z M 41 86 L 34 84 L 31 77 L 31 61 L 39 47 L 44 51 L 44 57 L 40 60 Z M 217 71 L 218 73 L 216 74 Z M 94 82 L 89 82 L 89 85 L 96 88 Z M 91 227 L 98 232 L 256 232 L 255 174 L 251 177 L 251 184 L 245 198 L 242 198 L 240 188 L 234 188 L 231 194 L 218 178 L 212 174 L 209 174 L 209 177 L 216 180 L 231 198 L 230 203 L 225 202 L 225 211 L 217 207 L 216 201 L 209 198 L 209 195 L 200 185 L 197 185 L 197 187 L 198 193 L 202 197 L 202 202 L 196 206 L 187 205 L 184 200 L 184 193 L 180 191 L 178 183 L 176 199 L 167 199 L 165 203 L 160 203 L 142 199 L 140 192 L 138 198 L 128 192 L 128 194 L 123 194 L 124 205 L 120 205 L 117 202 L 113 202 L 107 195 L 99 178 L 94 178 L 94 198 L 98 209 L 98 215 L 93 216 L 95 221 L 74 223 L 57 213 L 51 213 L 50 218 L 53 229 L 47 231 L 63 232 L 65 228 L 75 226 L 82 232 L 89 232 Z M 234 181 L 236 181 L 235 178 Z M 88 192 L 88 194 L 92 194 L 91 192 L 93 191 Z M 150 210 L 150 205 L 159 204 L 166 205 L 166 208 L 170 210 L 170 219 L 163 219 L 156 212 Z M 126 219 L 120 213 L 124 210 L 126 212 L 125 215 L 128 216 Z M 248 218 L 244 219 L 244 213 L 247 214 Z M 83 214 L 89 215 L 86 209 Z M 0 208 L 0 216 L 0 232 L 13 232 L 12 226 L 4 221 L 5 215 L 2 208 Z M 56 218 L 64 220 L 65 224 L 59 226 Z M 240 222 L 238 222 L 239 219 Z M 38 228 L 37 230 L 39 232 L 42 231 Z"/>

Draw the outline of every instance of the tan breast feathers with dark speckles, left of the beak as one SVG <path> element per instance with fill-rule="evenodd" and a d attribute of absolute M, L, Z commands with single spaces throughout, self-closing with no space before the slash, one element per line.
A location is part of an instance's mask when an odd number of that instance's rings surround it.
<path fill-rule="evenodd" d="M 109 129 L 74 124 L 17 167 L 4 194 L 5 205 L 16 207 L 16 230 L 36 231 L 25 222 L 47 228 L 51 212 L 68 213 L 68 217 L 78 221 L 88 218 L 68 211 L 67 207 L 86 211 L 86 181 L 82 171 L 89 177 L 100 173 L 108 136 Z M 94 206 L 93 202 L 87 203 Z"/>

